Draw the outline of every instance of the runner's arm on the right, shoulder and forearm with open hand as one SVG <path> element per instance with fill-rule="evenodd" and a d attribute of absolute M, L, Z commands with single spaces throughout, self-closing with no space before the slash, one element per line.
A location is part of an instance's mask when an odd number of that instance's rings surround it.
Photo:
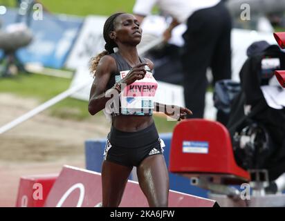
<path fill-rule="evenodd" d="M 154 63 L 146 58 L 145 61 L 147 62 L 149 69 L 152 70 L 154 68 Z M 154 111 L 164 113 L 165 115 L 177 120 L 185 119 L 187 114 L 192 115 L 192 111 L 188 108 L 176 105 L 160 104 L 158 102 L 154 102 Z"/>

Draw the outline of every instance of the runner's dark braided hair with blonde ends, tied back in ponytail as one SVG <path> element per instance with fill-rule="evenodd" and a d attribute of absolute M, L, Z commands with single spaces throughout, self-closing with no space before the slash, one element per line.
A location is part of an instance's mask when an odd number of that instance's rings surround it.
<path fill-rule="evenodd" d="M 111 39 L 111 37 L 109 36 L 109 33 L 115 30 L 115 20 L 119 15 L 122 15 L 122 14 L 125 14 L 125 13 L 113 14 L 104 23 L 103 37 L 104 37 L 104 40 L 106 41 L 106 44 L 104 46 L 105 50 L 100 52 L 100 54 L 96 55 L 95 57 L 91 58 L 89 69 L 91 73 L 93 74 L 93 77 L 95 77 L 95 70 L 97 69 L 100 59 L 104 57 L 105 55 L 112 54 L 114 52 L 113 48 L 118 47 L 115 41 L 113 41 L 113 39 Z"/>

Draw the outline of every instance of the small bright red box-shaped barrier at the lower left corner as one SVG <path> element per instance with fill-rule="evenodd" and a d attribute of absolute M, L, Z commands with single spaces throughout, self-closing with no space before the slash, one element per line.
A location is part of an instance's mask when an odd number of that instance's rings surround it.
<path fill-rule="evenodd" d="M 30 175 L 20 179 L 17 207 L 42 207 L 58 174 Z"/>

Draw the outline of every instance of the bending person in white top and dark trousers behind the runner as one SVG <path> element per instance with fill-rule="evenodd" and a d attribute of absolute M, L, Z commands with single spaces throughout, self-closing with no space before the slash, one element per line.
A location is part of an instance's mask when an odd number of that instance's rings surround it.
<path fill-rule="evenodd" d="M 181 53 L 185 106 L 192 109 L 192 117 L 203 118 L 207 68 L 212 68 L 213 84 L 231 77 L 230 14 L 220 0 L 137 0 L 133 12 L 143 21 L 155 5 L 163 15 L 172 17 L 163 34 L 165 41 L 174 27 L 187 23 Z M 222 122 L 223 114 L 218 112 L 217 119 Z"/>

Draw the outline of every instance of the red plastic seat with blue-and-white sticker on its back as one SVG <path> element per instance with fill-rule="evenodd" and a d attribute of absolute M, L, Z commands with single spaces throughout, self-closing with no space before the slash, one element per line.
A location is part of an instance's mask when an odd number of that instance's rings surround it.
<path fill-rule="evenodd" d="M 187 177 L 219 178 L 222 184 L 248 182 L 250 175 L 237 166 L 230 134 L 223 124 L 187 119 L 174 128 L 169 171 Z"/>

